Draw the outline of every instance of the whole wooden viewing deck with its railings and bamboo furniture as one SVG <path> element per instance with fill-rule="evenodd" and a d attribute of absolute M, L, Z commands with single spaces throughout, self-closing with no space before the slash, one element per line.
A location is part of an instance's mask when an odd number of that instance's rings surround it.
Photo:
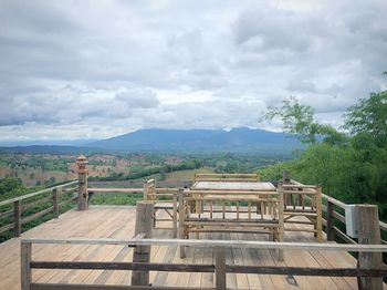
<path fill-rule="evenodd" d="M 0 244 L 0 289 L 387 289 L 377 206 L 346 205 L 287 172 L 273 184 L 196 174 L 189 188 L 90 187 L 86 164 L 77 158 L 76 182 L 0 203 L 0 232 L 14 236 Z M 140 200 L 90 206 L 111 193 Z"/>

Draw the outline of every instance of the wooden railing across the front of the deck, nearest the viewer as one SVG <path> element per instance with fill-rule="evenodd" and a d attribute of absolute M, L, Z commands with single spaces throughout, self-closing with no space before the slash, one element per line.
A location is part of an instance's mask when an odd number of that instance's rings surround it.
<path fill-rule="evenodd" d="M 156 263 L 156 262 L 90 262 L 90 261 L 36 261 L 32 260 L 32 245 L 122 245 L 134 248 L 144 246 L 164 245 L 170 247 L 212 247 L 215 249 L 215 263 Z M 283 267 L 283 266 L 240 266 L 226 262 L 224 248 L 249 249 L 292 249 L 307 251 L 352 251 L 362 253 L 387 252 L 385 245 L 339 245 L 314 242 L 270 242 L 270 241 L 243 241 L 243 240 L 185 240 L 185 239 L 23 239 L 21 241 L 21 283 L 22 290 L 27 289 L 138 289 L 138 286 L 106 286 L 106 284 L 44 284 L 32 281 L 32 269 L 77 269 L 77 270 L 133 270 L 174 271 L 174 272 L 213 272 L 216 275 L 216 289 L 226 289 L 226 275 L 229 273 L 255 273 L 255 275 L 293 275 L 318 277 L 387 277 L 386 268 L 317 268 L 317 267 Z M 150 251 L 150 249 L 149 249 Z M 140 289 L 178 289 L 176 287 L 143 286 Z M 212 288 L 211 288 L 212 289 Z"/>

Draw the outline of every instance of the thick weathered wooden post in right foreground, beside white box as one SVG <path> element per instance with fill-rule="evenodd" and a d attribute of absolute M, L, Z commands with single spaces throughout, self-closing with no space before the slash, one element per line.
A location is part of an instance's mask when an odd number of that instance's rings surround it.
<path fill-rule="evenodd" d="M 374 205 L 357 206 L 358 244 L 380 245 L 380 229 L 378 208 Z M 381 252 L 359 252 L 358 266 L 363 269 L 381 269 Z M 360 277 L 359 289 L 383 289 L 383 278 Z"/>

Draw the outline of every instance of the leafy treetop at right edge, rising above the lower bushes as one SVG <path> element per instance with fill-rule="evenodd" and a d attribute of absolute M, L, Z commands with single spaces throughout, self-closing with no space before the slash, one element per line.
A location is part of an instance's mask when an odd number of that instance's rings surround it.
<path fill-rule="evenodd" d="M 372 93 L 349 107 L 345 128 L 354 135 L 367 133 L 379 147 L 387 147 L 387 91 Z"/>

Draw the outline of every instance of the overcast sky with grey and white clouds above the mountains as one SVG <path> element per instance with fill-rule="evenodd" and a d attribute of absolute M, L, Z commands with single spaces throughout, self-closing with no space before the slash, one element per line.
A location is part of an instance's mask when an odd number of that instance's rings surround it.
<path fill-rule="evenodd" d="M 387 1 L 0 1 L 0 142 L 147 127 L 278 130 L 293 95 L 339 126 L 384 87 Z"/>

